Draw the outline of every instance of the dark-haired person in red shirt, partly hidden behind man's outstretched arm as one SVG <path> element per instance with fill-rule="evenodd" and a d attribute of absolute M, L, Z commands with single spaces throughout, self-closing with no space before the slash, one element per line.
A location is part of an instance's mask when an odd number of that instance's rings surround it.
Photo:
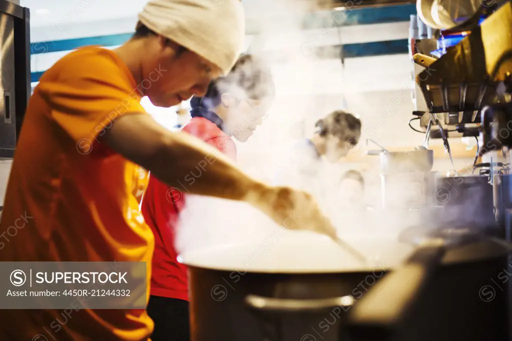
<path fill-rule="evenodd" d="M 193 97 L 191 120 L 182 131 L 216 147 L 233 161 L 232 138 L 245 142 L 262 123 L 274 96 L 274 83 L 263 63 L 243 55 L 224 78 L 210 83 L 203 97 Z M 184 195 L 150 176 L 142 214 L 155 235 L 151 296 L 147 313 L 155 323 L 152 341 L 188 341 L 187 270 L 177 261 L 175 227 Z"/>

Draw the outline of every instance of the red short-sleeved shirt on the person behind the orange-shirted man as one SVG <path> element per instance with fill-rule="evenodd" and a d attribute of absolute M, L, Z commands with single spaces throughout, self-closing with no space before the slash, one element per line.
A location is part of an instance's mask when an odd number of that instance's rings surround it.
<path fill-rule="evenodd" d="M 236 145 L 210 120 L 194 117 L 182 131 L 200 138 L 236 160 Z M 188 301 L 186 266 L 178 263 L 174 247 L 178 216 L 184 205 L 183 193 L 150 176 L 142 199 L 142 214 L 155 235 L 151 295 Z"/>

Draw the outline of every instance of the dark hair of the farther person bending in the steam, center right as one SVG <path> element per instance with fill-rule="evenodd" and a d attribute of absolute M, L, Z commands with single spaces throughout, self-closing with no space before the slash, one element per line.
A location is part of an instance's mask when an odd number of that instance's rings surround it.
<path fill-rule="evenodd" d="M 343 110 L 336 110 L 315 124 L 320 136 L 334 135 L 356 145 L 361 136 L 361 121 Z"/>

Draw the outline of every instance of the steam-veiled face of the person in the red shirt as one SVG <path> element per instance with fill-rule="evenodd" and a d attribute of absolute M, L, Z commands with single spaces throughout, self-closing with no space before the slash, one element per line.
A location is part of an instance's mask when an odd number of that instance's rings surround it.
<path fill-rule="evenodd" d="M 227 107 L 228 118 L 225 121 L 225 128 L 238 141 L 245 142 L 263 123 L 268 105 L 255 99 L 244 99 L 232 103 Z"/>

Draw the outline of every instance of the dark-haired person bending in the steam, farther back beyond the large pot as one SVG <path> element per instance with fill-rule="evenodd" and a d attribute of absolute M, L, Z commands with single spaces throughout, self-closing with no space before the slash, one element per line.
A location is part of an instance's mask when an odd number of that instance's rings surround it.
<path fill-rule="evenodd" d="M 315 128 L 313 136 L 298 142 L 286 156 L 276 183 L 321 193 L 319 180 L 325 176 L 321 174 L 322 160 L 337 162 L 357 145 L 361 136 L 361 121 L 342 110 L 318 120 Z"/>

